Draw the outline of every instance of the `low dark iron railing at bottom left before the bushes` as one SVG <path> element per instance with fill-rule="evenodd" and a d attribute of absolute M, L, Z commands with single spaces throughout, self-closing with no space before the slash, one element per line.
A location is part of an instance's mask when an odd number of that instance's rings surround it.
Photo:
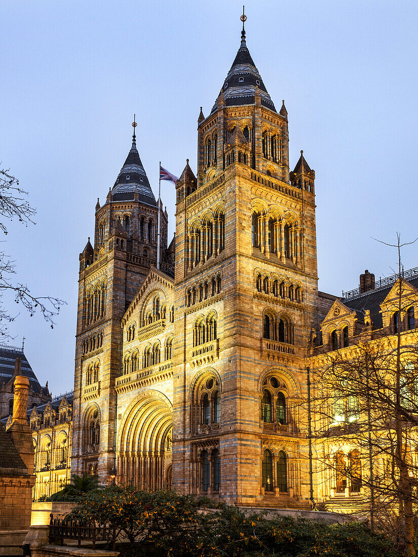
<path fill-rule="evenodd" d="M 96 547 L 96 541 L 103 541 L 108 548 L 114 550 L 116 528 L 110 524 L 96 524 L 95 520 L 79 522 L 66 517 L 55 519 L 51 512 L 49 543 L 52 544 L 56 540 L 59 540 L 61 545 L 64 545 L 64 540 L 77 540 L 79 548 L 82 541 L 91 541 L 93 549 Z"/>

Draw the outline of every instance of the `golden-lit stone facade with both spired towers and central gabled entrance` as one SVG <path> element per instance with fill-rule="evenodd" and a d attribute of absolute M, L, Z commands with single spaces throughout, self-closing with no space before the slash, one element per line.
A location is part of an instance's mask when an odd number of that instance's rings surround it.
<path fill-rule="evenodd" d="M 309 507 L 306 362 L 337 299 L 318 292 L 314 181 L 303 152 L 290 172 L 288 113 L 243 29 L 198 118 L 197 175 L 187 161 L 176 182 L 169 247 L 162 212 L 161 268 L 135 136 L 96 205 L 80 254 L 73 473 Z"/>

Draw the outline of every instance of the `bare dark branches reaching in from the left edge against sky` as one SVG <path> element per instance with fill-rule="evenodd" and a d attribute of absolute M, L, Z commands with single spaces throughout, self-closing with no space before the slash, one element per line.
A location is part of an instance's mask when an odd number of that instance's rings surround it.
<path fill-rule="evenodd" d="M 19 182 L 8 170 L 0 170 L 0 230 L 8 233 L 7 221 L 17 219 L 25 226 L 35 224 L 33 220 L 36 209 L 27 201 L 28 193 L 19 186 Z M 35 296 L 23 282 L 14 280 L 16 276 L 15 261 L 6 252 L 0 250 L 0 337 L 11 338 L 8 324 L 16 319 L 19 312 L 13 312 L 4 302 L 4 296 L 10 292 L 14 302 L 21 304 L 33 316 L 36 312 L 43 315 L 45 321 L 54 328 L 54 316 L 59 314 L 63 300 L 52 296 Z"/>

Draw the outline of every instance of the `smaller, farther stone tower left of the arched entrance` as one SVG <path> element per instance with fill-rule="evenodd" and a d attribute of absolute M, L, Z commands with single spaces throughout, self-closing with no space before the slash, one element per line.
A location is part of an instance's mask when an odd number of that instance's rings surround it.
<path fill-rule="evenodd" d="M 135 132 L 135 130 L 134 130 Z M 157 262 L 158 202 L 136 146 L 132 147 L 106 202 L 95 208 L 94 247 L 80 254 L 77 309 L 74 435 L 71 471 L 109 480 L 115 465 L 115 377 L 121 370 L 122 317 Z M 161 211 L 162 268 L 167 212 Z"/>

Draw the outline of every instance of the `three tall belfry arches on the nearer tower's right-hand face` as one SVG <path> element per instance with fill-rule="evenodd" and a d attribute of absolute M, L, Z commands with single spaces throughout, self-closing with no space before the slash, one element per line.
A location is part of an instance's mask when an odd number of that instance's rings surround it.
<path fill-rule="evenodd" d="M 251 242 L 261 253 L 273 253 L 283 262 L 290 259 L 296 265 L 300 263 L 302 240 L 296 222 L 255 209 L 251 213 Z"/>

